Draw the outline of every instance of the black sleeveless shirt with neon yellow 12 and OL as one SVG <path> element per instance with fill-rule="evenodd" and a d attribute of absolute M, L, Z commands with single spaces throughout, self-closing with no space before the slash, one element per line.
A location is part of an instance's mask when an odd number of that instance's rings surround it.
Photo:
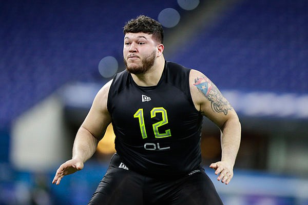
<path fill-rule="evenodd" d="M 177 177 L 201 167 L 202 115 L 191 99 L 189 72 L 166 61 L 150 87 L 138 86 L 126 70 L 114 76 L 107 108 L 115 150 L 129 170 Z"/>

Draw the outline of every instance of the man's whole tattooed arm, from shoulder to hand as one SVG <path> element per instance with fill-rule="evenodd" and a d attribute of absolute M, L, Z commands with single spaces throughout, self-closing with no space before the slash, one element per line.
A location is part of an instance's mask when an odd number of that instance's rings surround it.
<path fill-rule="evenodd" d="M 233 167 L 241 140 L 241 125 L 236 111 L 214 83 L 199 71 L 190 72 L 190 92 L 196 109 L 212 120 L 221 131 L 221 161 L 212 163 L 217 179 L 226 185 L 233 178 Z"/>

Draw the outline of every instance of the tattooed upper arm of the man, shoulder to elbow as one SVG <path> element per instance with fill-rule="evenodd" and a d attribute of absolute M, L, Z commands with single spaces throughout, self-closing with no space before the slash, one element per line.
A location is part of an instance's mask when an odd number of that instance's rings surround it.
<path fill-rule="evenodd" d="M 199 71 L 191 70 L 190 91 L 196 108 L 219 127 L 230 115 L 235 114 L 233 107 L 216 85 Z"/>

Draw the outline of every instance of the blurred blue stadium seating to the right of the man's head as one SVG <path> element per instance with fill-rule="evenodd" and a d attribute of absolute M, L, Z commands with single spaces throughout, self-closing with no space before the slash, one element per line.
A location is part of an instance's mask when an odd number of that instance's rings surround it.
<path fill-rule="evenodd" d="M 308 2 L 243 1 L 172 60 L 221 89 L 308 92 Z"/>

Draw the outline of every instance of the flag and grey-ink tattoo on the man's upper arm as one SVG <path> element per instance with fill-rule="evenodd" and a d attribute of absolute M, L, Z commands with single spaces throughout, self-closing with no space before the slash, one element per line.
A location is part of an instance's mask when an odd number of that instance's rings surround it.
<path fill-rule="evenodd" d="M 213 111 L 227 115 L 228 110 L 233 110 L 228 100 L 207 77 L 197 77 L 194 86 L 210 101 Z"/>

